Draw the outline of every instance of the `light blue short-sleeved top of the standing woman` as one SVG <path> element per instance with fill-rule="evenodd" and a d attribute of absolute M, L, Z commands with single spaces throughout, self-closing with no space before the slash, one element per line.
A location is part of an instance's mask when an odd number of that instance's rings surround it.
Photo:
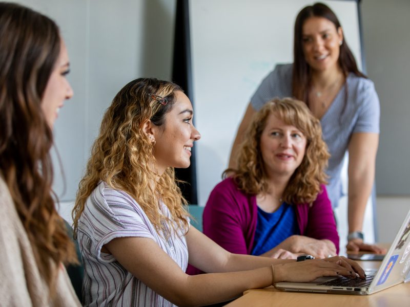
<path fill-rule="evenodd" d="M 345 88 L 347 86 L 347 103 Z M 251 99 L 258 111 L 265 102 L 275 98 L 292 97 L 292 64 L 276 65 L 259 85 Z M 320 119 L 323 140 L 331 157 L 327 167 L 327 193 L 335 208 L 343 196 L 341 170 L 347 146 L 354 133 L 379 133 L 380 104 L 371 80 L 350 73 L 336 98 Z"/>

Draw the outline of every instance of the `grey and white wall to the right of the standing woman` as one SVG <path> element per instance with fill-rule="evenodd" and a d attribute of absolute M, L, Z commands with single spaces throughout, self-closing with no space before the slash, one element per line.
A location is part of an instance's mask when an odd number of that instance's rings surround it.
<path fill-rule="evenodd" d="M 361 8 L 367 74 L 375 82 L 381 108 L 378 241 L 392 242 L 410 209 L 410 1 L 362 0 Z"/>

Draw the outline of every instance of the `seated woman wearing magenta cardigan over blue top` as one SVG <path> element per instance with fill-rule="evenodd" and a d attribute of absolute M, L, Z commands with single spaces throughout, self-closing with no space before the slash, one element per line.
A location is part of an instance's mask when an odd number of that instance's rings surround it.
<path fill-rule="evenodd" d="M 267 102 L 252 119 L 238 168 L 220 182 L 203 212 L 203 232 L 238 254 L 329 257 L 339 237 L 327 197 L 329 153 L 305 103 Z"/>

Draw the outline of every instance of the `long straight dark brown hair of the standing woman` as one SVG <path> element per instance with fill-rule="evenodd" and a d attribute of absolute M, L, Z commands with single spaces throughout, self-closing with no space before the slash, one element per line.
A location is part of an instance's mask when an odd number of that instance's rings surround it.
<path fill-rule="evenodd" d="M 292 76 L 292 95 L 301 101 L 305 101 L 309 105 L 309 90 L 311 87 L 312 69 L 306 62 L 303 54 L 303 24 L 310 17 L 323 17 L 330 20 L 338 30 L 341 25 L 336 14 L 325 4 L 315 3 L 314 5 L 304 7 L 296 17 L 294 29 L 294 45 L 293 45 L 293 76 Z M 340 46 L 340 54 L 338 60 L 339 66 L 342 69 L 344 77 L 348 73 L 363 78 L 367 78 L 357 68 L 355 57 L 352 51 L 347 46 L 346 39 L 342 41 Z M 346 93 L 347 94 L 347 93 Z M 347 97 L 347 95 L 346 95 Z"/>

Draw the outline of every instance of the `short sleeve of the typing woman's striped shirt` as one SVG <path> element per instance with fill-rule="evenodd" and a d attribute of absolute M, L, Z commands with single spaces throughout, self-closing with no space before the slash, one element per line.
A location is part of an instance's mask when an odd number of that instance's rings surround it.
<path fill-rule="evenodd" d="M 87 200 L 83 212 L 91 253 L 101 261 L 111 262 L 111 254 L 101 255 L 101 248 L 117 237 L 146 237 L 155 240 L 152 224 L 137 202 L 126 192 L 100 184 Z"/>

